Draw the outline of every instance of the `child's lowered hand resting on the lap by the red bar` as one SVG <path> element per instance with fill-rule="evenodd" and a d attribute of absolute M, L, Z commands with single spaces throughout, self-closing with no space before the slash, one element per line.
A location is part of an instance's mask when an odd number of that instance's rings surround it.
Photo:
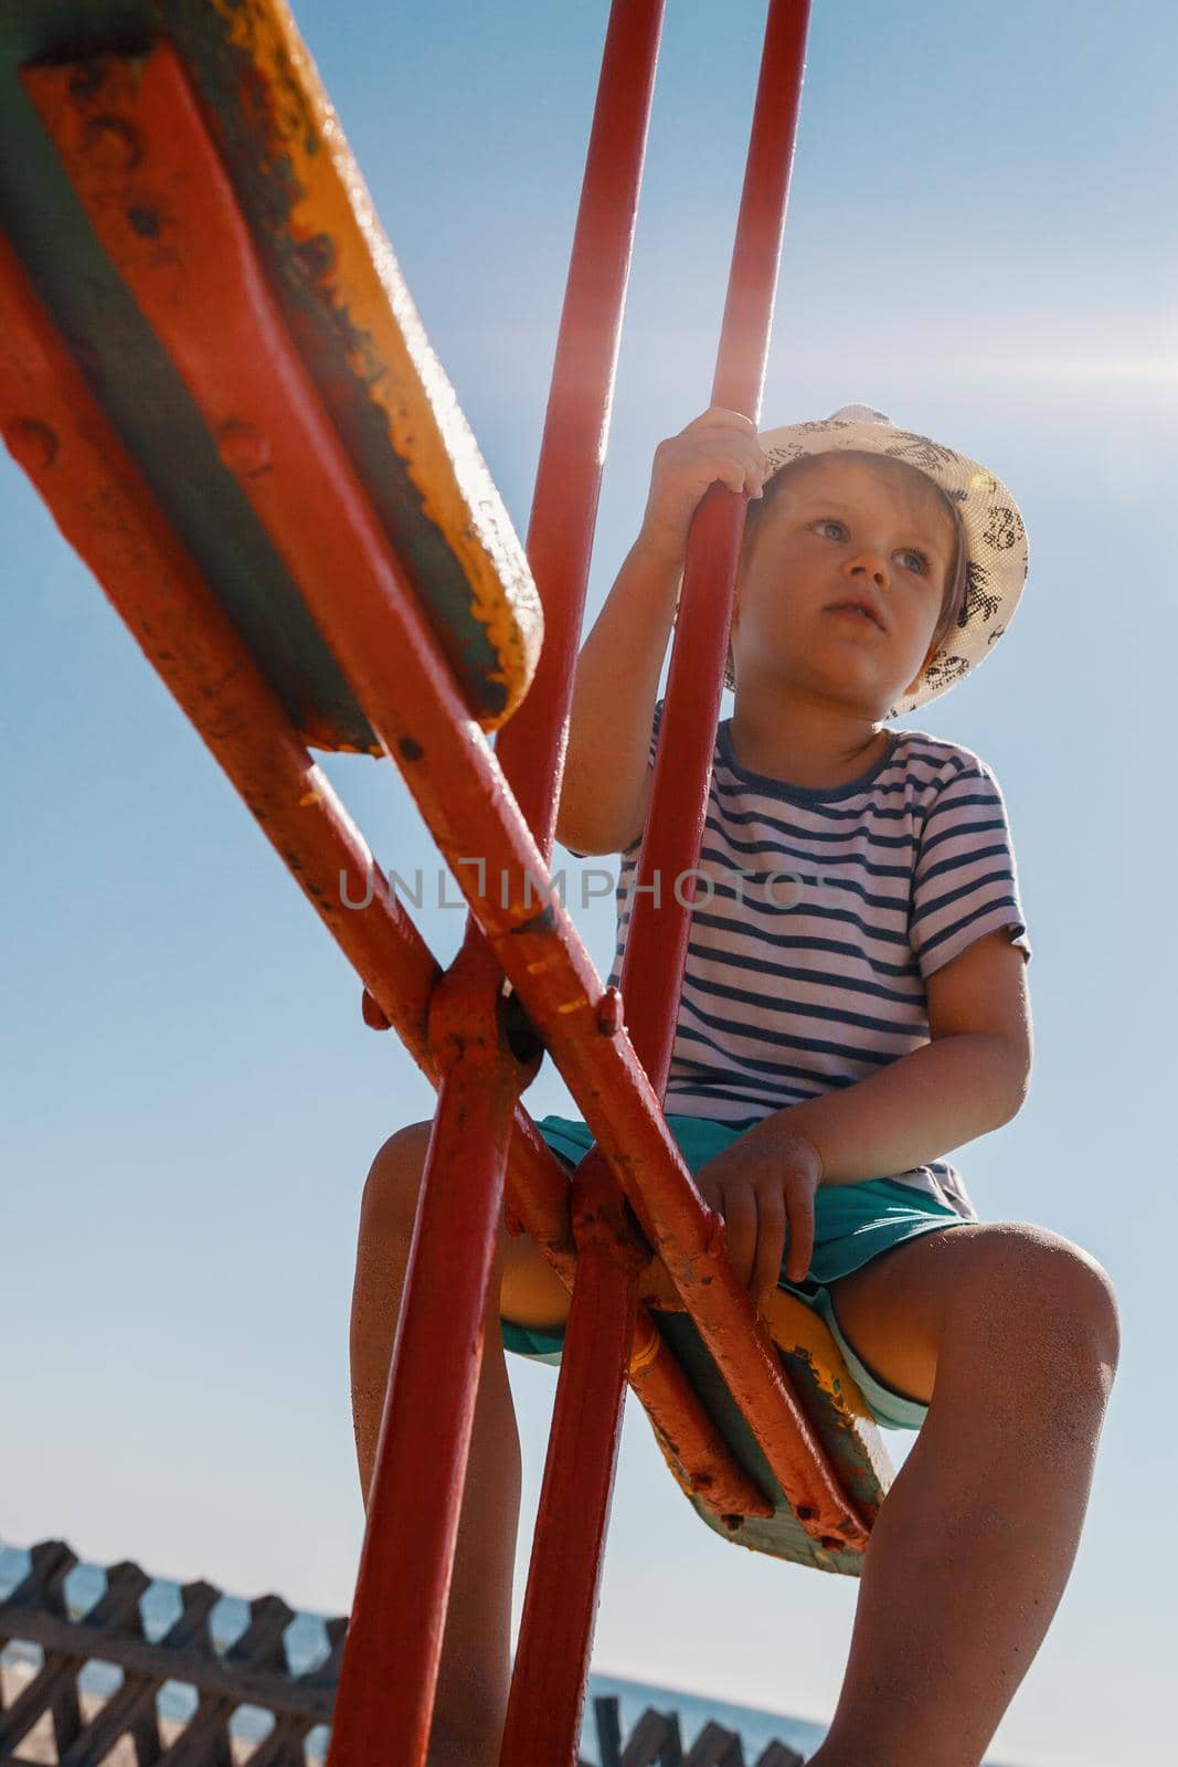
<path fill-rule="evenodd" d="M 814 1253 L 814 1191 L 823 1163 L 814 1143 L 772 1119 L 696 1172 L 705 1202 L 724 1216 L 724 1242 L 736 1278 L 758 1306 L 772 1295 L 789 1228 L 786 1276 L 805 1279 Z"/>

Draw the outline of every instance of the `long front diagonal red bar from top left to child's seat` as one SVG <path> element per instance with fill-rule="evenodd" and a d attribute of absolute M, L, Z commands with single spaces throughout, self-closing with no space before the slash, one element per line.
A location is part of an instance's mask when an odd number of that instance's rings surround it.
<path fill-rule="evenodd" d="M 244 468 L 242 489 L 401 767 L 774 1475 L 811 1511 L 809 1532 L 864 1544 L 864 1523 L 736 1283 L 719 1217 L 701 1207 L 629 1037 L 599 1025 L 600 982 L 569 915 L 551 899 L 537 908 L 537 880 L 540 892 L 551 887 L 544 859 L 283 330 L 175 57 L 157 46 L 136 62 L 125 102 L 145 141 L 136 212 L 141 219 L 141 203 L 157 200 L 161 223 L 175 224 L 185 240 L 184 254 L 161 251 L 131 226 L 120 175 L 87 161 L 69 69 L 35 69 L 25 78 L 95 231 L 214 435 L 233 421 L 251 422 L 267 438 L 270 465 L 261 474 Z M 111 94 L 102 101 L 109 104 Z M 224 334 L 226 353 L 207 350 L 210 334 Z M 346 573 L 337 569 L 341 557 Z M 486 894 L 470 853 L 486 862 Z"/>

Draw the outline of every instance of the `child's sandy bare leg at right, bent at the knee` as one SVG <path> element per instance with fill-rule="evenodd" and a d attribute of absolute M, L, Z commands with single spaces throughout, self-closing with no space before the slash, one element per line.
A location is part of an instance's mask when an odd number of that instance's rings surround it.
<path fill-rule="evenodd" d="M 834 1285 L 890 1385 L 929 1399 L 865 1564 L 814 1767 L 977 1767 L 1067 1583 L 1118 1355 L 1100 1267 L 1031 1226 L 963 1226 Z"/>

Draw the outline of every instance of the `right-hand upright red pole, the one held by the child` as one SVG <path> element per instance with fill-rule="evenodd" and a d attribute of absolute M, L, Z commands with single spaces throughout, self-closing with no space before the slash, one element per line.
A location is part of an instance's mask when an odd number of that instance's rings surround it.
<path fill-rule="evenodd" d="M 759 408 L 768 352 L 804 44 L 805 7 L 775 0 L 765 37 L 714 389 L 714 403 L 731 399 L 751 412 Z M 781 102 L 782 90 L 789 94 L 786 102 Z M 722 504 L 712 497 L 696 521 L 683 583 L 683 595 L 691 587 L 691 599 L 678 627 L 680 643 L 664 705 L 664 721 L 675 705 L 675 723 L 687 726 L 694 740 L 689 744 L 680 732 L 678 739 L 671 735 L 661 742 L 639 882 L 650 882 L 652 875 L 655 880 L 678 878 L 699 859 L 728 626 L 715 613 L 710 622 L 696 624 L 694 613 L 701 597 L 710 597 L 714 608 L 731 603 L 742 523 L 744 500 L 731 493 Z M 724 599 L 717 595 L 717 580 L 728 590 Z M 675 767 L 673 790 L 668 756 L 673 756 Z M 673 898 L 661 912 L 650 898 L 638 894 L 636 901 L 645 912 L 636 908 L 632 914 L 622 998 L 629 1002 L 634 981 L 634 1050 L 662 1096 L 678 1020 L 691 896 L 685 906 Z M 586 1186 L 597 1205 L 590 1219 L 599 1221 L 608 1212 L 615 1186 L 593 1161 L 590 1154 L 578 1168 L 574 1191 Z M 608 1295 L 609 1306 L 629 1322 L 638 1269 L 620 1256 L 620 1235 L 613 1256 L 595 1251 L 590 1258 L 588 1242 L 581 1235 L 578 1240 L 581 1263 L 565 1331 L 502 1767 L 567 1767 L 576 1758 L 585 1700 L 625 1373 L 616 1336 L 602 1334 L 599 1306 Z M 609 1274 L 604 1265 L 609 1265 Z M 585 1283 L 592 1285 L 590 1293 L 578 1304 Z M 586 1433 L 585 1417 L 597 1419 L 597 1437 Z M 555 1613 L 562 1615 L 562 1624 L 553 1624 Z"/>

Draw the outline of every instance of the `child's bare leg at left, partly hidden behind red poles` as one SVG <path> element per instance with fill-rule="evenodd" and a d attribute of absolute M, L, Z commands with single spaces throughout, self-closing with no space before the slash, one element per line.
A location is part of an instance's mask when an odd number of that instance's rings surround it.
<path fill-rule="evenodd" d="M 401 1129 L 373 1161 L 364 1189 L 351 1302 L 351 1410 L 366 1502 L 427 1147 L 427 1122 Z M 500 1336 L 500 1285 L 509 1316 L 521 1323 L 553 1323 L 567 1315 L 567 1292 L 532 1240 L 509 1239 L 500 1232 L 487 1288 L 482 1371 L 438 1668 L 429 1767 L 495 1767 L 507 1712 L 521 1474 L 519 1433 Z"/>

